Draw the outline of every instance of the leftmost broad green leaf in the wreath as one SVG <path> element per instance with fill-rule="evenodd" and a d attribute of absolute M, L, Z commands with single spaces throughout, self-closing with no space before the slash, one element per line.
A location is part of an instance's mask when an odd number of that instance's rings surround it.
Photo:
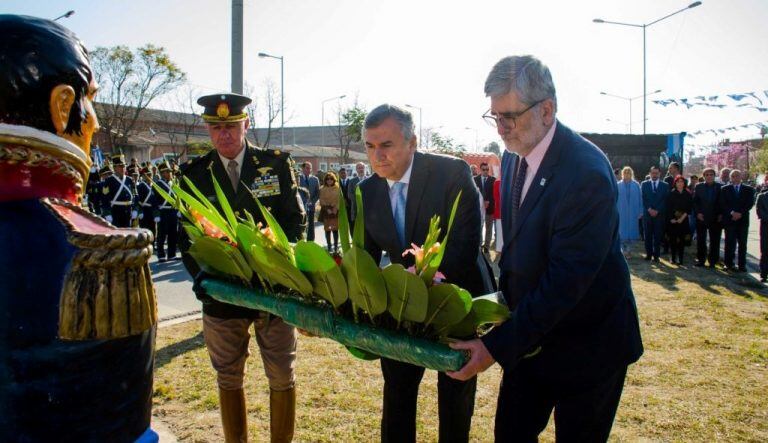
<path fill-rule="evenodd" d="M 213 274 L 237 277 L 250 284 L 253 271 L 243 255 L 229 243 L 211 237 L 199 237 L 189 248 L 189 254 L 200 267 Z"/>

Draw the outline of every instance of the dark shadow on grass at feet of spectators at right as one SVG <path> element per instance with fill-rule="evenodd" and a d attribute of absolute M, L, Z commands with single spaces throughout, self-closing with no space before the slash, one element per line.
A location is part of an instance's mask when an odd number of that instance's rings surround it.
<path fill-rule="evenodd" d="M 686 254 L 684 265 L 672 264 L 668 258 L 662 258 L 659 263 L 646 261 L 641 255 L 636 255 L 628 261 L 632 275 L 649 283 L 661 285 L 669 291 L 677 291 L 679 281 L 686 281 L 700 286 L 703 290 L 723 295 L 722 287 L 728 288 L 729 293 L 751 299 L 754 296 L 768 298 L 768 289 L 748 273 L 731 273 L 723 268 L 696 267 L 695 257 Z M 721 287 L 721 288 L 718 288 Z"/>

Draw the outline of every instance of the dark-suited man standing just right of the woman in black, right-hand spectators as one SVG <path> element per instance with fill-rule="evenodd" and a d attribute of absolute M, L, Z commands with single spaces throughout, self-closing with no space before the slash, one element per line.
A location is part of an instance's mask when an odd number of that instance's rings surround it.
<path fill-rule="evenodd" d="M 720 214 L 720 183 L 715 182 L 715 170 L 704 170 L 704 183 L 699 183 L 693 190 L 693 213 L 696 216 L 696 266 L 704 266 L 709 260 L 709 267 L 714 268 L 720 261 L 720 236 L 722 219 Z M 709 253 L 707 253 L 707 235 L 709 235 Z"/>

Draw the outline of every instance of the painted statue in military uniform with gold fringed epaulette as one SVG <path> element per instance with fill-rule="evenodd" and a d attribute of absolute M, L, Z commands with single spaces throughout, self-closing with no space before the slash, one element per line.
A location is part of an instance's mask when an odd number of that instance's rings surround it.
<path fill-rule="evenodd" d="M 157 441 L 152 234 L 81 207 L 88 52 L 50 20 L 0 34 L 0 441 Z"/>

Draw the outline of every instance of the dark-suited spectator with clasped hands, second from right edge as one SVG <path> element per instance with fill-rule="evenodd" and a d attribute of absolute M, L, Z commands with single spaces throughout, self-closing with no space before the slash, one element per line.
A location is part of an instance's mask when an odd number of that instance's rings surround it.
<path fill-rule="evenodd" d="M 741 182 L 741 171 L 731 171 L 731 181 L 720 191 L 720 213 L 725 226 L 725 267 L 729 271 L 747 272 L 747 234 L 749 210 L 755 205 L 755 188 Z M 736 246 L 739 267 L 734 266 Z"/>

